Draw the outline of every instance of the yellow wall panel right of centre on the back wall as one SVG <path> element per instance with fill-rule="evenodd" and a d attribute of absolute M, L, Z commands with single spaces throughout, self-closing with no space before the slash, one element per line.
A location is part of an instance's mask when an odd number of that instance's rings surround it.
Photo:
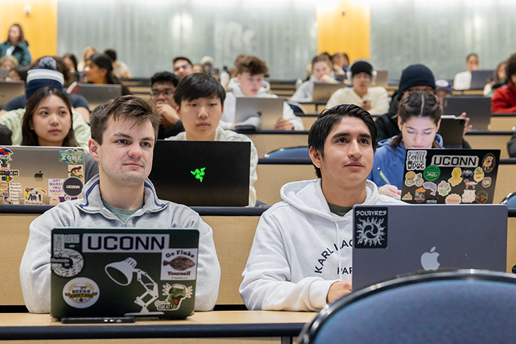
<path fill-rule="evenodd" d="M 343 14 L 344 12 L 344 14 Z M 371 9 L 356 0 L 327 0 L 317 4 L 317 51 L 345 52 L 350 60 L 369 58 Z"/>

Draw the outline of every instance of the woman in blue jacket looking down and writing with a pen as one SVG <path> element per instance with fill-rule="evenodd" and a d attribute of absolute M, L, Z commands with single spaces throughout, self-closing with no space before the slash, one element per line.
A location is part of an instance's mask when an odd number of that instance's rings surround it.
<path fill-rule="evenodd" d="M 400 134 L 378 142 L 373 169 L 367 179 L 378 186 L 378 193 L 399 198 L 407 148 L 441 148 L 442 137 L 437 133 L 442 109 L 430 92 L 410 92 L 400 100 L 398 127 Z M 391 184 L 380 175 L 380 171 Z"/>

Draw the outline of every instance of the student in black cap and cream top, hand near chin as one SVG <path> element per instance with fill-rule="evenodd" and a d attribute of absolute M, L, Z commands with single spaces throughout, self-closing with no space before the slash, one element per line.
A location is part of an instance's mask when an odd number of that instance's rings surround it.
<path fill-rule="evenodd" d="M 381 86 L 371 87 L 376 71 L 371 61 L 361 58 L 348 68 L 347 80 L 353 87 L 337 89 L 328 100 L 327 108 L 339 104 L 354 104 L 369 111 L 369 114 L 384 114 L 389 109 L 389 94 Z"/>

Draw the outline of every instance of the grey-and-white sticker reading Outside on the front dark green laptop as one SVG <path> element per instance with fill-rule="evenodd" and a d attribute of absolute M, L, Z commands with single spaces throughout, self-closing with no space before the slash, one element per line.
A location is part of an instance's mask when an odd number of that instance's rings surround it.
<path fill-rule="evenodd" d="M 78 234 L 56 234 L 52 246 L 50 266 L 54 274 L 61 277 L 74 277 L 83 270 L 84 259 L 80 252 L 74 248 L 80 248 Z"/>

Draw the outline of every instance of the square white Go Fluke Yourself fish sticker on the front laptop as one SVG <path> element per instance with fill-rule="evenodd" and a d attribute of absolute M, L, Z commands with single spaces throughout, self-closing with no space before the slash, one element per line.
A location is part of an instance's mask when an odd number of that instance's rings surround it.
<path fill-rule="evenodd" d="M 161 255 L 161 280 L 194 280 L 197 273 L 197 248 L 166 248 Z"/>

